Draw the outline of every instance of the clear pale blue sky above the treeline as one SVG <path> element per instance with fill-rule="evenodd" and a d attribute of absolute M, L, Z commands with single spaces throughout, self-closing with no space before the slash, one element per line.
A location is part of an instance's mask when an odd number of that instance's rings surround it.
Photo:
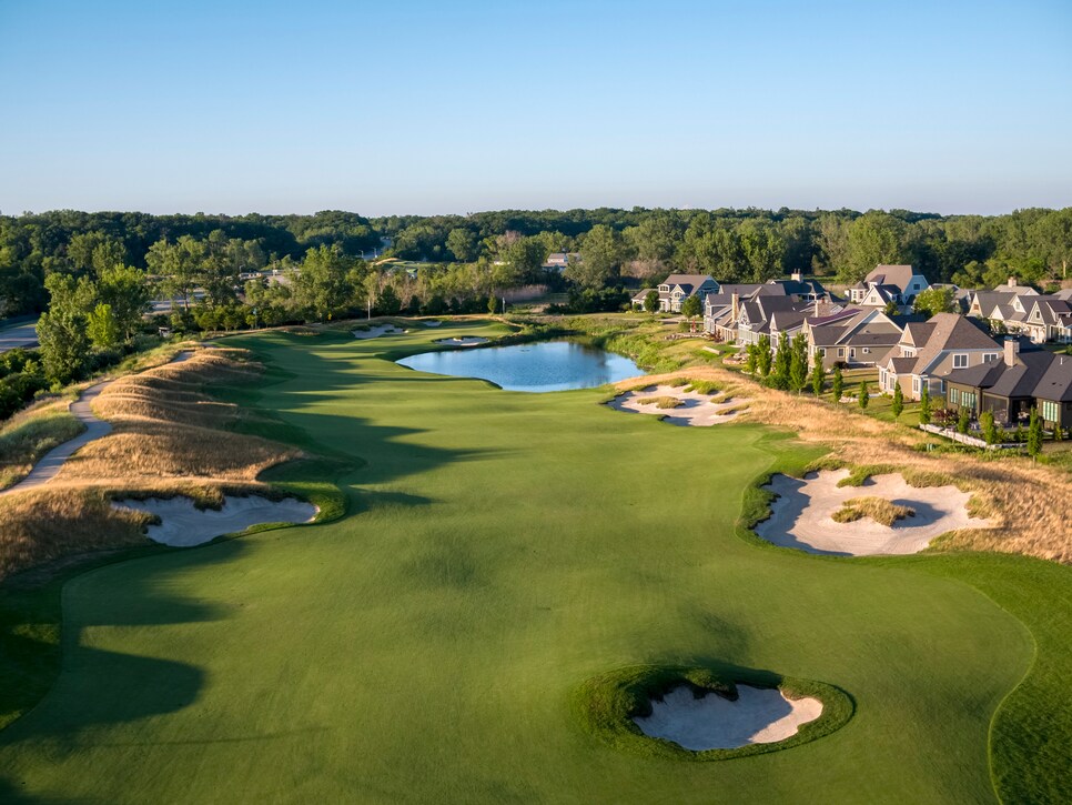
<path fill-rule="evenodd" d="M 1072 0 L 0 0 L 0 211 L 1072 205 Z"/>

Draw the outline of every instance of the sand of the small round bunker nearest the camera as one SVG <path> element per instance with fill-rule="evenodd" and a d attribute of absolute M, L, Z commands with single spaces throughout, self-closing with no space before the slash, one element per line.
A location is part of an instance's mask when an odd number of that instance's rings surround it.
<path fill-rule="evenodd" d="M 681 685 L 661 702 L 653 701 L 651 715 L 633 721 L 649 737 L 702 752 L 785 741 L 820 715 L 818 698 L 786 698 L 773 687 L 738 685 L 732 702 L 714 692 L 696 698 L 692 688 Z"/>

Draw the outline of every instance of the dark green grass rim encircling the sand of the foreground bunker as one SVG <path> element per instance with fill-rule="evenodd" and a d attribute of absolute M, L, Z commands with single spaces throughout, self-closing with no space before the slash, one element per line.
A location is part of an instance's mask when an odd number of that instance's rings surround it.
<path fill-rule="evenodd" d="M 788 698 L 811 696 L 822 702 L 822 715 L 801 725 L 796 735 L 771 744 L 748 744 L 732 749 L 692 752 L 671 741 L 645 735 L 635 717 L 651 714 L 651 701 L 681 685 L 694 695 L 718 693 L 737 698 L 737 685 L 777 687 Z M 594 676 L 574 694 L 574 710 L 587 732 L 615 748 L 649 757 L 680 761 L 727 761 L 787 749 L 840 729 L 852 717 L 852 698 L 833 685 L 796 680 L 767 671 L 687 665 L 631 665 Z"/>

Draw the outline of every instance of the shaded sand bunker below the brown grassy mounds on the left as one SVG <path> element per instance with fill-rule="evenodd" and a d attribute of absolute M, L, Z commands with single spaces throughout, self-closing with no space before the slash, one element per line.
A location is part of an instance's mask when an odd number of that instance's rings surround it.
<path fill-rule="evenodd" d="M 270 501 L 267 497 L 225 497 L 223 507 L 200 510 L 190 497 L 150 497 L 121 501 L 119 510 L 148 512 L 160 517 L 159 525 L 148 526 L 148 535 L 164 545 L 189 547 L 201 545 L 222 534 L 245 531 L 261 523 L 307 523 L 316 516 L 316 506 L 293 497 Z"/>

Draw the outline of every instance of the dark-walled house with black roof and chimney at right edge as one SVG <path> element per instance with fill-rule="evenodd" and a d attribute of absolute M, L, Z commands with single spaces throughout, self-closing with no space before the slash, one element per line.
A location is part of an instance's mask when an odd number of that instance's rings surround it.
<path fill-rule="evenodd" d="M 1007 339 L 1001 361 L 949 373 L 945 407 L 967 407 L 973 419 L 989 411 L 1005 426 L 1024 422 L 1038 407 L 1045 426 L 1072 426 L 1072 358 Z"/>

